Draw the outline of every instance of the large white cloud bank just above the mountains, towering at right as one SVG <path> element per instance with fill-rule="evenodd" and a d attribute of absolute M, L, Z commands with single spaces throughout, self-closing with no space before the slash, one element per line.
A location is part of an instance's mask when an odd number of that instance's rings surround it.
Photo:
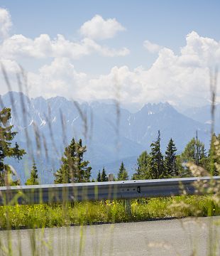
<path fill-rule="evenodd" d="M 115 66 L 109 74 L 94 78 L 75 70 L 70 59 L 57 58 L 38 73 L 29 73 L 33 95 L 38 88 L 38 93 L 47 97 L 62 95 L 99 100 L 119 96 L 125 105 L 160 101 L 173 105 L 204 105 L 210 97 L 209 68 L 220 64 L 220 43 L 195 32 L 187 35 L 186 42 L 180 54 L 162 48 L 149 69 Z"/>

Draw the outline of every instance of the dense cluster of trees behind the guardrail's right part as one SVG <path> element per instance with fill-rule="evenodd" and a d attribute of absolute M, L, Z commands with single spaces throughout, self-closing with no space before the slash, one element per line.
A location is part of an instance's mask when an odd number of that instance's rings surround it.
<path fill-rule="evenodd" d="M 214 140 L 220 139 L 213 134 L 211 145 Z M 191 176 L 187 163 L 191 162 L 202 166 L 204 169 L 210 171 L 211 175 L 217 175 L 217 170 L 210 169 L 211 161 L 213 161 L 214 150 L 210 145 L 208 152 L 204 149 L 204 144 L 199 141 L 198 137 L 192 138 L 182 154 L 177 154 L 175 142 L 170 138 L 165 155 L 163 155 L 160 148 L 160 131 L 158 137 L 150 144 L 150 153 L 143 151 L 138 157 L 136 164 L 136 172 L 133 174 L 133 179 L 151 179 L 151 178 L 175 178 Z M 214 167 L 214 166 L 213 166 Z"/>

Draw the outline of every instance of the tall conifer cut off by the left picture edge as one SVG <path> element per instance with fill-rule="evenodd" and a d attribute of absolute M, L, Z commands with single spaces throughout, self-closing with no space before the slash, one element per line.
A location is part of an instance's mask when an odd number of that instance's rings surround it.
<path fill-rule="evenodd" d="M 17 132 L 11 132 L 13 125 L 9 125 L 10 119 L 11 109 L 5 107 L 0 111 L 0 186 L 12 186 L 19 183 L 19 181 L 12 181 L 10 178 L 15 174 L 9 165 L 4 164 L 4 159 L 13 157 L 19 161 L 26 154 L 24 149 L 19 149 L 17 142 L 14 146 L 11 146 L 11 141 Z"/>

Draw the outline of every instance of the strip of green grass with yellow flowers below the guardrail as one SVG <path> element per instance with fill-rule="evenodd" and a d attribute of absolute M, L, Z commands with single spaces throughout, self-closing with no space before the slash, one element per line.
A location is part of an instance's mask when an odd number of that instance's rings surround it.
<path fill-rule="evenodd" d="M 120 223 L 155 218 L 220 215 L 211 196 L 177 196 L 131 201 L 131 215 L 123 201 L 1 206 L 0 228 L 42 228 L 94 223 Z"/>

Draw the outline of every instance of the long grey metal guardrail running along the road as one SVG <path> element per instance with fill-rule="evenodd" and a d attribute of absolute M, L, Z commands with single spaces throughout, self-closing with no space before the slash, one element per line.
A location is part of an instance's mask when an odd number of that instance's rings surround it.
<path fill-rule="evenodd" d="M 0 187 L 0 206 L 75 201 L 120 200 L 180 196 L 185 190 L 195 193 L 194 182 L 220 182 L 220 176 L 199 178 L 164 178 L 140 181 L 107 181 L 53 185 Z M 204 193 L 206 193 L 204 191 Z"/>

